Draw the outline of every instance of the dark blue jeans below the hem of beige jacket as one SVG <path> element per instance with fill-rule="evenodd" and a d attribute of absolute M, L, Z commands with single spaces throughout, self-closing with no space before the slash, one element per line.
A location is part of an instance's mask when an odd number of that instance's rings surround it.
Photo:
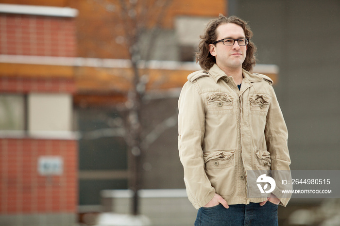
<path fill-rule="evenodd" d="M 278 226 L 277 207 L 269 201 L 259 203 L 201 207 L 197 212 L 195 226 Z"/>

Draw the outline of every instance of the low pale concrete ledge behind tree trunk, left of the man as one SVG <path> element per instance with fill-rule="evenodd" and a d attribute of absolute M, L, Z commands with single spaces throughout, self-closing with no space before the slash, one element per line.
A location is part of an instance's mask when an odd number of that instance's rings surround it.
<path fill-rule="evenodd" d="M 131 190 L 103 190 L 104 211 L 129 214 L 132 210 Z M 197 210 L 187 199 L 185 189 L 150 189 L 138 192 L 139 212 L 148 217 L 153 226 L 192 226 Z"/>

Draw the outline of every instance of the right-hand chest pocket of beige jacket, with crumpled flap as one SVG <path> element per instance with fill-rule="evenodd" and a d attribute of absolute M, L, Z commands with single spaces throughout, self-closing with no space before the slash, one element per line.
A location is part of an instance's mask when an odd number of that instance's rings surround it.
<path fill-rule="evenodd" d="M 270 96 L 268 94 L 251 94 L 249 95 L 250 112 L 253 114 L 266 114 L 270 105 Z"/>

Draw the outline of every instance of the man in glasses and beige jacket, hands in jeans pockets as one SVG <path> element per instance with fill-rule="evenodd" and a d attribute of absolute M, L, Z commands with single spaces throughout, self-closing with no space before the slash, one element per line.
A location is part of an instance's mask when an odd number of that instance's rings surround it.
<path fill-rule="evenodd" d="M 252 74 L 253 32 L 220 14 L 201 36 L 197 62 L 178 101 L 179 155 L 195 225 L 277 225 L 276 190 L 248 197 L 249 170 L 289 170 L 288 132 L 272 80 Z M 275 195 L 276 194 L 276 195 Z"/>

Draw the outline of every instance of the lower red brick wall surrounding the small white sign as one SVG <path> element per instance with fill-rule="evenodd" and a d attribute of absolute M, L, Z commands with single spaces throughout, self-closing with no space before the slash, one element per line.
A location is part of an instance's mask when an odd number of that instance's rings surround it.
<path fill-rule="evenodd" d="M 0 139 L 0 214 L 75 213 L 77 141 Z M 60 176 L 38 174 L 38 157 L 60 156 Z"/>

